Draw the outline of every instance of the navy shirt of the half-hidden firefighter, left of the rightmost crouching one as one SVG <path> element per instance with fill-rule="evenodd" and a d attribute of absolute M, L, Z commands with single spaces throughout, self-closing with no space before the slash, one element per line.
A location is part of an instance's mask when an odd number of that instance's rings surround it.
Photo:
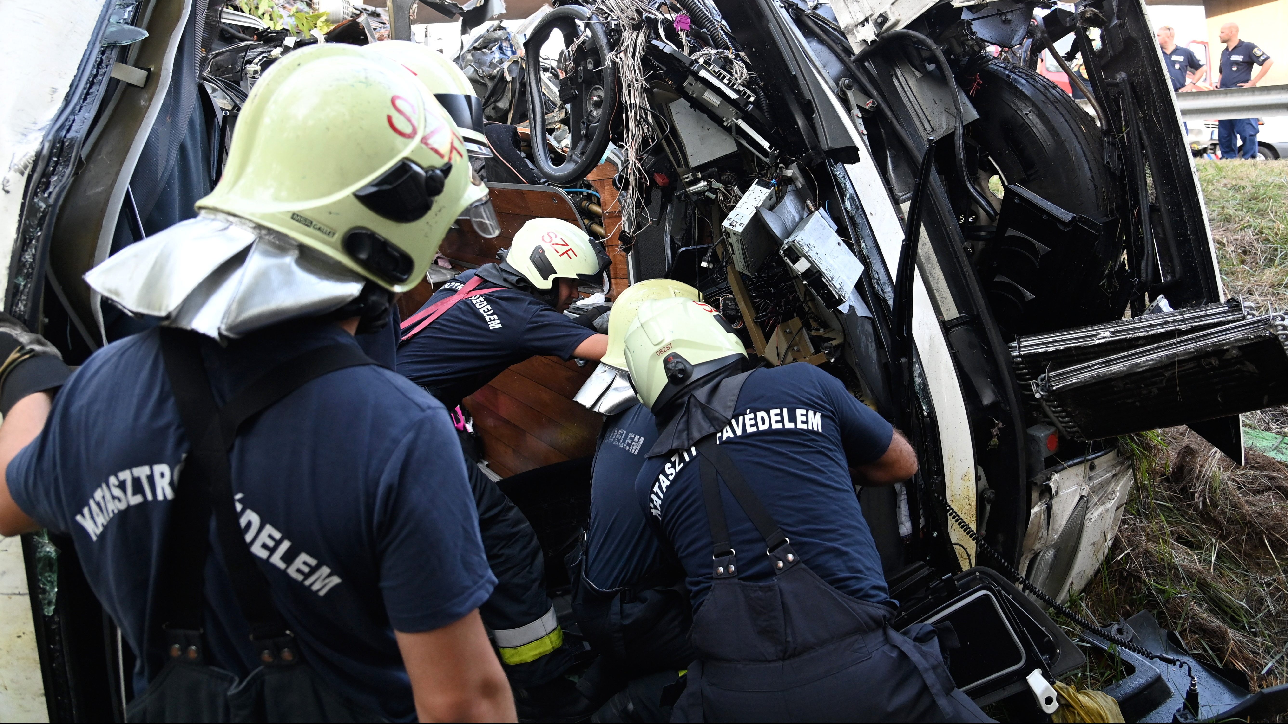
<path fill-rule="evenodd" d="M 657 441 L 643 404 L 604 421 L 590 484 L 586 579 L 600 590 L 641 583 L 663 565 L 662 543 L 635 496 L 635 478 Z"/>

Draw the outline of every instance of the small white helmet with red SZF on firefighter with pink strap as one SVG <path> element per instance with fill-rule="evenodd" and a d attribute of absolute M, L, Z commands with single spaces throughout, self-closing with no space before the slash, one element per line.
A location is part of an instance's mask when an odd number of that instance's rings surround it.
<path fill-rule="evenodd" d="M 580 226 L 562 219 L 529 219 L 510 243 L 505 264 L 536 289 L 550 289 L 555 279 L 604 288 L 608 252 Z M 607 291 L 607 289 L 604 289 Z"/>

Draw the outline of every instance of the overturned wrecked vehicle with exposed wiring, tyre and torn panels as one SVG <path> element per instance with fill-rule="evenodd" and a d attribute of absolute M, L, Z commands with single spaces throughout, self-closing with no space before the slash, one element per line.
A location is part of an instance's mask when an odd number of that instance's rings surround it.
<path fill-rule="evenodd" d="M 4 131 L 5 311 L 71 364 L 138 323 L 82 275 L 192 215 L 259 75 L 314 42 L 408 39 L 412 1 L 336 4 L 325 33 L 204 5 L 104 3 L 35 54 L 58 94 L 4 91 L 26 114 Z M 496 0 L 420 5 L 461 24 L 502 234 L 455 228 L 404 316 L 528 219 L 580 224 L 611 253 L 607 301 L 692 284 L 761 364 L 818 365 L 905 431 L 916 478 L 857 495 L 898 625 L 951 621 L 978 703 L 1055 711 L 1050 682 L 1084 660 L 1055 615 L 1126 664 L 1105 692 L 1128 720 L 1288 710 L 1148 612 L 1100 628 L 1063 606 L 1126 504 L 1117 436 L 1188 424 L 1242 462 L 1239 413 L 1288 404 L 1288 323 L 1225 297 L 1141 0 L 558 1 L 522 26 Z M 31 13 L 43 30 L 8 60 L 62 22 Z M 1034 71 L 1070 35 L 1090 109 Z M 623 370 L 533 359 L 465 408 L 504 478 L 591 454 L 632 403 Z M 501 485 L 558 597 L 589 480 Z M 50 718 L 120 720 L 130 653 L 75 550 L 22 550 Z"/>

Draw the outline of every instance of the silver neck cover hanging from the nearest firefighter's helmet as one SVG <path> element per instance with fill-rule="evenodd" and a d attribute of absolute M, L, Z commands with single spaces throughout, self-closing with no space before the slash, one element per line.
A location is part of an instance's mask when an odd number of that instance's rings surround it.
<path fill-rule="evenodd" d="M 285 234 L 205 211 L 125 247 L 85 282 L 131 315 L 222 343 L 340 309 L 366 283 Z"/>

